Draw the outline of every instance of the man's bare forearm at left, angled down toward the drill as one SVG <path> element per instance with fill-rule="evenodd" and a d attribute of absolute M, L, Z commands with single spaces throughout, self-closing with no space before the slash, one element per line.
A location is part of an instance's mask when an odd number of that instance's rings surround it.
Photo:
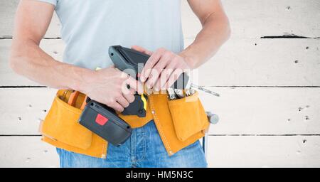
<path fill-rule="evenodd" d="M 31 40 L 13 40 L 10 63 L 19 75 L 58 89 L 80 90 L 85 77 L 92 72 L 53 59 Z"/>

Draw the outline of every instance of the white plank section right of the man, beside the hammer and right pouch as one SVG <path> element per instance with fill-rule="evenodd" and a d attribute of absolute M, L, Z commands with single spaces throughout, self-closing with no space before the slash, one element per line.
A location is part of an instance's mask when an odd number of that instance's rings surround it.
<path fill-rule="evenodd" d="M 320 134 L 320 88 L 211 87 L 206 110 L 220 117 L 210 134 Z"/>

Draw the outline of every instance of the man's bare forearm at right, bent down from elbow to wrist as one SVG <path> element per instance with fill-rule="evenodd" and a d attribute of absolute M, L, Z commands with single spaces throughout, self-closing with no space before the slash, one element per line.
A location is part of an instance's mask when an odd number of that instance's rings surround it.
<path fill-rule="evenodd" d="M 195 41 L 180 53 L 191 69 L 198 68 L 215 55 L 230 36 L 230 26 L 225 14 L 211 14 L 202 24 L 203 28 Z"/>

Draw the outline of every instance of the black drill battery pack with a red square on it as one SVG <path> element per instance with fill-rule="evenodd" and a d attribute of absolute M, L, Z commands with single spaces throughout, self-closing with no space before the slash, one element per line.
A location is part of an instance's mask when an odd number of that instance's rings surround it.
<path fill-rule="evenodd" d="M 127 122 L 106 105 L 90 100 L 85 105 L 79 123 L 115 146 L 120 146 L 132 134 Z"/>

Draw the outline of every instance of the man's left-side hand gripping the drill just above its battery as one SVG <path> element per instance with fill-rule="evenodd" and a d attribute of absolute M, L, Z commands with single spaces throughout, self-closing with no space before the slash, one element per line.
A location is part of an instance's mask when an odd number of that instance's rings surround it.
<path fill-rule="evenodd" d="M 129 88 L 128 88 L 129 85 Z M 92 100 L 122 112 L 129 103 L 134 102 L 134 93 L 143 93 L 143 85 L 113 66 L 85 75 L 80 92 Z"/>

